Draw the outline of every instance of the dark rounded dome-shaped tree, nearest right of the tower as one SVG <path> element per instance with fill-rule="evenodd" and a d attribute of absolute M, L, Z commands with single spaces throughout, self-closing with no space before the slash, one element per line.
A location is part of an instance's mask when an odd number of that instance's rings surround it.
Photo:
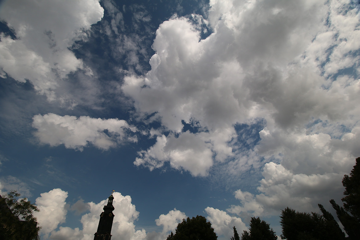
<path fill-rule="evenodd" d="M 175 234 L 167 237 L 167 240 L 217 240 L 214 228 L 211 223 L 206 221 L 203 216 L 188 217 L 183 219 L 175 230 Z"/>

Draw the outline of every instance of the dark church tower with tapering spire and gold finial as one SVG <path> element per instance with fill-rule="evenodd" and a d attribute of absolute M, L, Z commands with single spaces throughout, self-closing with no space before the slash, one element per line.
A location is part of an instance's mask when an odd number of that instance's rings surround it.
<path fill-rule="evenodd" d="M 104 212 L 100 214 L 98 231 L 95 232 L 94 240 L 111 240 L 111 227 L 114 219 L 112 211 L 115 209 L 112 205 L 113 195 L 109 196 L 108 204 L 104 206 Z"/>

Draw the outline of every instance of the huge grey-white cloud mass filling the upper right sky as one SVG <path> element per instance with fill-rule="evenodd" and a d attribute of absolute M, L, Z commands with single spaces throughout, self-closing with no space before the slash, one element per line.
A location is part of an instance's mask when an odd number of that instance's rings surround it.
<path fill-rule="evenodd" d="M 256 159 L 276 159 L 307 176 L 348 170 L 360 148 L 351 141 L 360 117 L 359 61 L 351 54 L 359 49 L 353 41 L 359 11 L 351 4 L 213 0 L 207 19 L 213 33 L 206 39 L 189 18 L 163 22 L 151 70 L 125 77 L 122 90 L 140 118 L 151 115 L 170 133 L 156 133 L 156 144 L 134 164 L 153 169 L 169 162 L 206 176 L 214 164 L 247 155 L 255 160 L 236 164 L 261 168 Z M 349 67 L 355 75 L 339 74 Z M 249 153 L 237 151 L 234 126 L 256 119 L 266 123 L 262 140 Z M 183 132 L 182 121 L 197 132 Z M 336 163 L 344 157 L 345 165 Z"/>

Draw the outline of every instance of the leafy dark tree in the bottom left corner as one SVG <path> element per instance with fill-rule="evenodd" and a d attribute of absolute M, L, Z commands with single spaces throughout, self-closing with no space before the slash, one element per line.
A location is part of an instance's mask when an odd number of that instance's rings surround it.
<path fill-rule="evenodd" d="M 36 205 L 26 198 L 18 199 L 17 191 L 0 196 L 0 239 L 4 240 L 39 240 L 36 217 L 39 212 Z"/>

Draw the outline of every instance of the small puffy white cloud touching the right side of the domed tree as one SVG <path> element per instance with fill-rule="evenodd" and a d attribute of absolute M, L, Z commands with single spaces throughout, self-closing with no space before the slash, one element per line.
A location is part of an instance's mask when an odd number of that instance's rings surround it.
<path fill-rule="evenodd" d="M 230 216 L 225 211 L 207 207 L 205 208 L 205 212 L 208 214 L 207 220 L 211 222 L 211 226 L 214 228 L 217 236 L 223 236 L 225 239 L 230 239 L 234 236 L 234 226 L 240 236 L 243 230 L 248 230 L 241 218 Z"/>

